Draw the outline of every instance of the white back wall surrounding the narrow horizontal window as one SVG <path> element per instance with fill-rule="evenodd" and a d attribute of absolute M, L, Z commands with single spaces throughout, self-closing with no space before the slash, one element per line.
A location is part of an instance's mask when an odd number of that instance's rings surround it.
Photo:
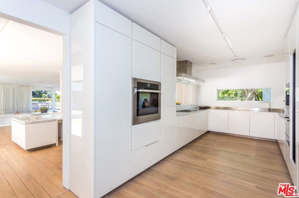
<path fill-rule="evenodd" d="M 216 107 L 268 108 L 258 101 L 217 101 L 217 89 L 272 88 L 271 108 L 284 108 L 285 63 L 198 71 L 199 104 Z"/>

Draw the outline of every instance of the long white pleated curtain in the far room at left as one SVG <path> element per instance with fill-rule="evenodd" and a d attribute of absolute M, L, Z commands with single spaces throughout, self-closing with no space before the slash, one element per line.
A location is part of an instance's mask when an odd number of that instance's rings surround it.
<path fill-rule="evenodd" d="M 0 111 L 30 110 L 31 99 L 32 86 L 0 84 Z"/>

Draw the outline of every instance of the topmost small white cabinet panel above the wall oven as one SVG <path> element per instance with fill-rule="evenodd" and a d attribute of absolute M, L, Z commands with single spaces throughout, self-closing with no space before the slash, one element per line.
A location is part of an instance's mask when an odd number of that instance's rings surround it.
<path fill-rule="evenodd" d="M 139 41 L 151 48 L 161 51 L 161 39 L 153 33 L 145 30 L 136 23 L 132 24 L 133 35 L 132 39 Z"/>

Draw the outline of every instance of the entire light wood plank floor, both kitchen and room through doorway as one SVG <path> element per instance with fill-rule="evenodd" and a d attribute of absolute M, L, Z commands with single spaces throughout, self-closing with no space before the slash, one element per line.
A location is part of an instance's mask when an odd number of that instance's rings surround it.
<path fill-rule="evenodd" d="M 108 197 L 278 197 L 292 183 L 277 142 L 206 133 Z M 0 127 L 0 197 L 76 197 L 62 186 L 62 144 L 25 151 Z"/>

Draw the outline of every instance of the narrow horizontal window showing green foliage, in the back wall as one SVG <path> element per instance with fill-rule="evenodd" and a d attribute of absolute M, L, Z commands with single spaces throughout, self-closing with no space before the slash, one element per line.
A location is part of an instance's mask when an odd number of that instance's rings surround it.
<path fill-rule="evenodd" d="M 217 100 L 271 101 L 271 88 L 217 90 Z"/>

